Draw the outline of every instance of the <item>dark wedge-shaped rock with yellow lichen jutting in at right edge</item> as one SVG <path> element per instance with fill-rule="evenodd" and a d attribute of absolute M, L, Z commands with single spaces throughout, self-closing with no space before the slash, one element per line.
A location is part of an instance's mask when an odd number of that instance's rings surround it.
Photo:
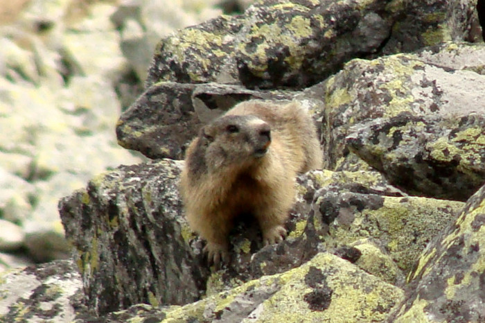
<path fill-rule="evenodd" d="M 410 194 L 466 201 L 485 182 L 485 105 L 482 110 L 378 118 L 355 127 L 347 146 Z"/>

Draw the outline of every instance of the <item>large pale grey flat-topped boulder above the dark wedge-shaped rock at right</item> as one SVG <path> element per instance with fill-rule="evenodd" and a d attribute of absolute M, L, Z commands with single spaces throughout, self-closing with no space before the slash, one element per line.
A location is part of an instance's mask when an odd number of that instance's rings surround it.
<path fill-rule="evenodd" d="M 323 87 L 312 91 L 323 92 L 326 103 L 321 125 L 325 167 L 352 168 L 355 156 L 349 154 L 344 138 L 353 128 L 367 121 L 390 118 L 403 112 L 412 116 L 448 118 L 466 116 L 471 112 L 484 114 L 481 93 L 485 91 L 485 76 L 470 71 L 473 67 L 482 69 L 484 63 L 475 59 L 476 64 L 467 65 L 464 70 L 446 67 L 446 64 L 451 65 L 446 61 L 453 55 L 446 55 L 448 48 L 457 49 L 457 46 L 448 44 L 443 49 L 444 67 L 440 66 L 438 55 L 431 63 L 423 62 L 414 54 L 391 55 L 370 61 L 352 60 L 335 76 L 315 85 Z M 480 53 L 484 46 L 476 45 L 475 49 Z M 466 52 L 462 55 L 465 57 Z M 477 58 L 476 55 L 472 51 L 468 57 Z M 468 61 L 474 60 L 469 58 Z"/>

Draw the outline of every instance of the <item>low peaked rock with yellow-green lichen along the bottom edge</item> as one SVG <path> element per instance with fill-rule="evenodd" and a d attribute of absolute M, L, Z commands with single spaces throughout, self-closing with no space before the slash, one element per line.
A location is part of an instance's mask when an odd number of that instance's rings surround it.
<path fill-rule="evenodd" d="M 322 253 L 283 274 L 265 276 L 182 308 L 134 306 L 103 317 L 119 322 L 163 317 L 174 322 L 382 322 L 403 291 Z"/>

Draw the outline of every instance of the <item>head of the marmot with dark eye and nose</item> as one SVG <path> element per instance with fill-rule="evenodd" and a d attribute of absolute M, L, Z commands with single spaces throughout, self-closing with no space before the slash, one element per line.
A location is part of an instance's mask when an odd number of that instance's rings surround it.
<path fill-rule="evenodd" d="M 211 170 L 224 166 L 249 166 L 266 155 L 271 128 L 257 116 L 222 116 L 200 130 L 206 165 Z"/>

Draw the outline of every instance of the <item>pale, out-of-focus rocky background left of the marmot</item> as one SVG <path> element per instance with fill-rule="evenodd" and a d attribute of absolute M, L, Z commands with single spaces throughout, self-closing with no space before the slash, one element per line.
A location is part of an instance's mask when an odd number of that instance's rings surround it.
<path fill-rule="evenodd" d="M 59 198 L 143 159 L 114 129 L 157 42 L 249 2 L 0 0 L 0 272 L 69 256 Z"/>

